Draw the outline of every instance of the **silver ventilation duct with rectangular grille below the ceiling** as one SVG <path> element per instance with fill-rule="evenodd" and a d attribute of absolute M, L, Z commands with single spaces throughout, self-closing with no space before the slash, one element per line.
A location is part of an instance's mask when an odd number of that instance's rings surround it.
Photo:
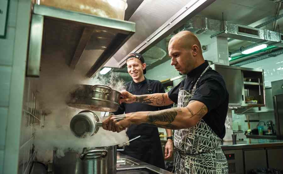
<path fill-rule="evenodd" d="M 283 47 L 283 43 L 281 42 L 283 40 L 283 34 L 281 35 L 278 32 L 230 23 L 228 21 L 224 21 L 223 29 L 222 21 L 206 17 L 191 18 L 181 30 L 189 30 L 193 33 L 214 34 L 216 37 L 235 38 L 248 42 L 266 43 L 268 45 Z M 223 32 L 221 33 L 220 31 Z M 217 32 L 219 34 L 215 34 Z"/>

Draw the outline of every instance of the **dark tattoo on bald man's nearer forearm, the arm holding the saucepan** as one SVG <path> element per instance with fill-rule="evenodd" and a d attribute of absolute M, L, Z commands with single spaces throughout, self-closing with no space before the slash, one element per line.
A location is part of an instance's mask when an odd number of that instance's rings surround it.
<path fill-rule="evenodd" d="M 172 125 L 171 123 L 175 120 L 176 116 L 180 112 L 182 112 L 180 108 L 149 112 L 149 114 L 147 115 L 147 122 L 166 129 L 177 129 L 177 127 L 175 125 Z M 156 123 L 156 121 L 162 122 L 164 124 Z"/>

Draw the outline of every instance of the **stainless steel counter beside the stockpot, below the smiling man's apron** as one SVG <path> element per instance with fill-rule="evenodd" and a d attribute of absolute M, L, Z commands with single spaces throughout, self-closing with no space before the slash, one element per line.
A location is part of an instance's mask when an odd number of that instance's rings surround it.
<path fill-rule="evenodd" d="M 130 160 L 130 162 L 134 162 L 134 164 L 132 166 L 129 166 L 129 165 L 119 166 L 119 164 L 118 164 L 117 165 L 117 172 L 119 171 L 119 174 L 120 173 L 129 173 L 129 171 L 123 172 L 121 170 L 125 170 L 125 169 L 138 169 L 138 168 L 147 168 L 147 169 L 152 170 L 152 171 L 154 171 L 156 173 L 159 173 L 159 174 L 173 174 L 173 173 L 171 173 L 169 171 L 166 171 L 164 169 L 161 169 L 159 167 L 147 164 L 146 162 L 137 160 L 135 158 L 132 158 L 130 156 L 127 156 L 127 155 L 124 155 L 124 154 L 122 154 L 120 152 L 117 152 L 117 161 L 119 161 L 119 159 L 127 159 L 127 160 Z"/>

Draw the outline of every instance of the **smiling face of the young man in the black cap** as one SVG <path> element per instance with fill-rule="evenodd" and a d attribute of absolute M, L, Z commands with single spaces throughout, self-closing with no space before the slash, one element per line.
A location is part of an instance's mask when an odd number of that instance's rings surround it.
<path fill-rule="evenodd" d="M 146 64 L 137 59 L 130 58 L 127 59 L 127 69 L 128 73 L 134 80 L 134 82 L 138 83 L 144 80 L 143 70 L 146 68 Z"/>

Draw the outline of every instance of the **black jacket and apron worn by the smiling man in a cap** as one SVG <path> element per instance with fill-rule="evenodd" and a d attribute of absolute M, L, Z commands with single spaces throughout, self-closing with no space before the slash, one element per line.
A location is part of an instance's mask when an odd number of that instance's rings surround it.
<path fill-rule="evenodd" d="M 152 93 L 165 93 L 163 85 L 157 80 L 148 79 Z M 129 90 L 130 82 L 126 84 L 126 90 Z M 134 95 L 150 94 L 148 91 L 147 80 L 135 83 L 132 81 L 131 90 L 128 91 Z M 156 111 L 168 109 L 169 106 L 152 106 L 142 103 L 122 103 L 119 109 L 114 112 L 115 115 L 138 111 Z M 154 125 L 143 123 L 141 125 L 131 125 L 127 130 L 127 135 L 130 139 L 136 136 L 140 138 L 131 141 L 129 146 L 126 146 L 122 153 L 134 157 L 138 160 L 144 161 L 148 164 L 165 168 L 164 157 L 161 148 L 158 128 Z"/>

